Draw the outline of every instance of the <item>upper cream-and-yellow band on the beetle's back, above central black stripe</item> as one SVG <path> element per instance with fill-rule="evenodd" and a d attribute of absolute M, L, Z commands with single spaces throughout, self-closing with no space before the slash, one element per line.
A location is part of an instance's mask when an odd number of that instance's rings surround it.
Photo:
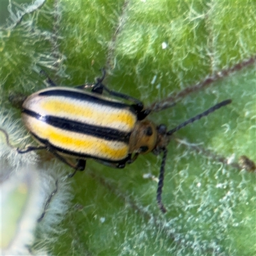
<path fill-rule="evenodd" d="M 129 109 L 113 108 L 67 97 L 35 95 L 29 100 L 29 106 L 26 108 L 36 111 L 40 115 L 58 116 L 124 132 L 131 132 L 136 122 L 136 115 Z"/>

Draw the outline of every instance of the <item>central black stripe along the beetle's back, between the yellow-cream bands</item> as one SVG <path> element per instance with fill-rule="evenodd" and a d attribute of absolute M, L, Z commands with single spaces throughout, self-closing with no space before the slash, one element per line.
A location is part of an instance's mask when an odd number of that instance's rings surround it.
<path fill-rule="evenodd" d="M 26 115 L 32 116 L 42 122 L 45 122 L 46 124 L 52 125 L 65 131 L 87 134 L 93 137 L 102 138 L 104 140 L 122 141 L 129 143 L 129 138 L 131 136 L 131 132 L 122 132 L 108 127 L 84 124 L 57 116 L 42 116 L 29 109 L 23 109 L 22 113 L 26 113 Z"/>

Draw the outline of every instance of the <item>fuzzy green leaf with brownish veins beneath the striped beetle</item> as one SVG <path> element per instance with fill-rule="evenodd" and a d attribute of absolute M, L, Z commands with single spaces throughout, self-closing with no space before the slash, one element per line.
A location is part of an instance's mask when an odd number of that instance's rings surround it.
<path fill-rule="evenodd" d="M 140 156 L 124 170 L 87 161 L 71 182 L 74 207 L 63 212 L 65 232 L 49 234 L 56 238 L 47 244 L 52 254 L 255 255 L 255 173 L 238 163 L 243 155 L 256 161 L 255 9 L 254 1 L 12 5 L 1 29 L 1 105 L 13 122 L 20 113 L 8 94 L 44 88 L 40 69 L 75 86 L 93 83 L 105 67 L 111 90 L 145 106 L 177 101 L 149 117 L 168 129 L 232 99 L 170 141 L 164 215 L 156 179 L 143 179 L 158 176 L 161 156 Z M 57 160 L 42 163 L 72 172 Z"/>

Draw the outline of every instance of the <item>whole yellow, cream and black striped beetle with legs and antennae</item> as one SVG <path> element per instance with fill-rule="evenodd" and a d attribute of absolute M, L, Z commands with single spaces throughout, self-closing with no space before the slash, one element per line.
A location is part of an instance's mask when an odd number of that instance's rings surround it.
<path fill-rule="evenodd" d="M 163 152 L 157 204 L 162 212 L 166 212 L 161 194 L 168 152 L 166 147 L 170 136 L 182 127 L 230 104 L 231 100 L 224 100 L 167 131 L 166 125 L 155 125 L 147 120 L 150 109 L 145 109 L 140 100 L 111 91 L 102 84 L 104 76 L 105 72 L 95 84 L 76 88 L 56 86 L 47 77 L 49 88 L 19 100 L 11 96 L 10 100 L 14 104 L 20 104 L 24 124 L 40 145 L 28 146 L 22 150 L 17 148 L 17 151 L 26 153 L 47 149 L 75 169 L 70 177 L 77 170 L 84 170 L 86 159 L 95 159 L 114 168 L 124 168 L 125 164 L 132 163 L 139 154 L 153 152 L 158 155 Z M 92 91 L 84 90 L 88 88 L 92 88 Z M 104 90 L 111 97 L 103 96 Z M 77 163 L 70 162 L 70 157 L 77 159 Z"/>

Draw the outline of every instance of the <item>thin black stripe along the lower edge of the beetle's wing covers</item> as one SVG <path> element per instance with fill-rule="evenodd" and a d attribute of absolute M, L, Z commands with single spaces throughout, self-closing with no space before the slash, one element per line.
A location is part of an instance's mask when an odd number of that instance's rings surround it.
<path fill-rule="evenodd" d="M 37 141 L 40 141 L 40 143 L 42 143 L 43 145 L 45 145 L 48 150 L 50 150 L 50 152 L 52 150 L 58 152 L 58 153 L 63 153 L 63 154 L 67 154 L 69 156 L 72 156 L 72 157 L 76 157 L 76 159 L 87 159 L 87 158 L 92 158 L 92 159 L 98 159 L 98 160 L 102 160 L 102 161 L 105 161 L 107 163 L 120 163 L 120 161 L 124 161 L 126 158 L 131 158 L 129 156 L 126 156 L 124 159 L 120 159 L 118 161 L 111 161 L 107 158 L 103 158 L 103 157 L 98 157 L 98 156 L 92 156 L 90 154 L 81 154 L 81 153 L 77 153 L 77 152 L 73 152 L 73 151 L 70 151 L 70 150 L 67 150 L 67 149 L 64 149 L 64 148 L 60 148 L 60 147 L 56 147 L 54 145 L 52 145 L 51 143 L 49 143 L 48 140 L 44 140 L 38 136 L 36 136 L 36 134 L 34 134 L 33 132 L 31 132 L 31 135 L 33 137 L 35 137 L 35 139 Z"/>

